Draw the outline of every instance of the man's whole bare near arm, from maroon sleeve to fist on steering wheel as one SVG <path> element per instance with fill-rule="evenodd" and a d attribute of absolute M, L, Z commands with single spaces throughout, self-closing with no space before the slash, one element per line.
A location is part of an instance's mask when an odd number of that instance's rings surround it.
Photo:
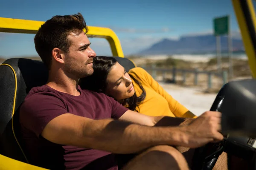
<path fill-rule="evenodd" d="M 223 139 L 218 132 L 219 123 L 217 112 L 203 114 L 193 124 L 180 127 L 148 127 L 121 120 L 92 120 L 65 113 L 52 119 L 41 136 L 57 144 L 112 153 L 136 153 L 160 144 L 200 147 L 219 141 Z M 208 130 L 201 126 L 208 127 Z"/>

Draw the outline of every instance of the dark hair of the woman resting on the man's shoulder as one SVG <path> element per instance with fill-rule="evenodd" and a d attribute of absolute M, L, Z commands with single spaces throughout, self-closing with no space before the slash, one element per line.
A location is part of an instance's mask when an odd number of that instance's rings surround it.
<path fill-rule="evenodd" d="M 108 73 L 111 71 L 112 66 L 115 65 L 116 62 L 117 61 L 114 57 L 97 56 L 93 58 L 93 74 L 91 76 L 81 78 L 79 80 L 80 87 L 82 89 L 105 93 Z M 137 111 L 135 109 L 145 99 L 146 92 L 137 79 L 135 79 L 132 75 L 130 75 L 130 77 L 137 85 L 139 85 L 140 89 L 142 90 L 142 94 L 137 96 L 135 92 L 133 96 L 124 99 L 122 105 L 126 106 L 131 111 Z"/>

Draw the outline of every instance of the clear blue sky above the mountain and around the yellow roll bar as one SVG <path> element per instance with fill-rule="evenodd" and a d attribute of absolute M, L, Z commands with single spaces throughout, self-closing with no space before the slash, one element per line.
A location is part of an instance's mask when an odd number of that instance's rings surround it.
<path fill-rule="evenodd" d="M 112 28 L 124 54 L 163 38 L 212 32 L 212 19 L 229 14 L 239 32 L 231 0 L 5 0 L 0 17 L 46 21 L 54 15 L 83 14 L 87 25 Z M 0 33 L 0 56 L 37 55 L 32 34 Z M 111 55 L 108 42 L 90 39 L 98 55 Z"/>

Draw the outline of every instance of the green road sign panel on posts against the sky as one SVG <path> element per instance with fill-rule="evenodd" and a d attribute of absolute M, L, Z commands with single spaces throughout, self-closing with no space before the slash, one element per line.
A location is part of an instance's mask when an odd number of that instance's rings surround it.
<path fill-rule="evenodd" d="M 213 19 L 214 35 L 224 35 L 229 32 L 229 16 Z"/>

